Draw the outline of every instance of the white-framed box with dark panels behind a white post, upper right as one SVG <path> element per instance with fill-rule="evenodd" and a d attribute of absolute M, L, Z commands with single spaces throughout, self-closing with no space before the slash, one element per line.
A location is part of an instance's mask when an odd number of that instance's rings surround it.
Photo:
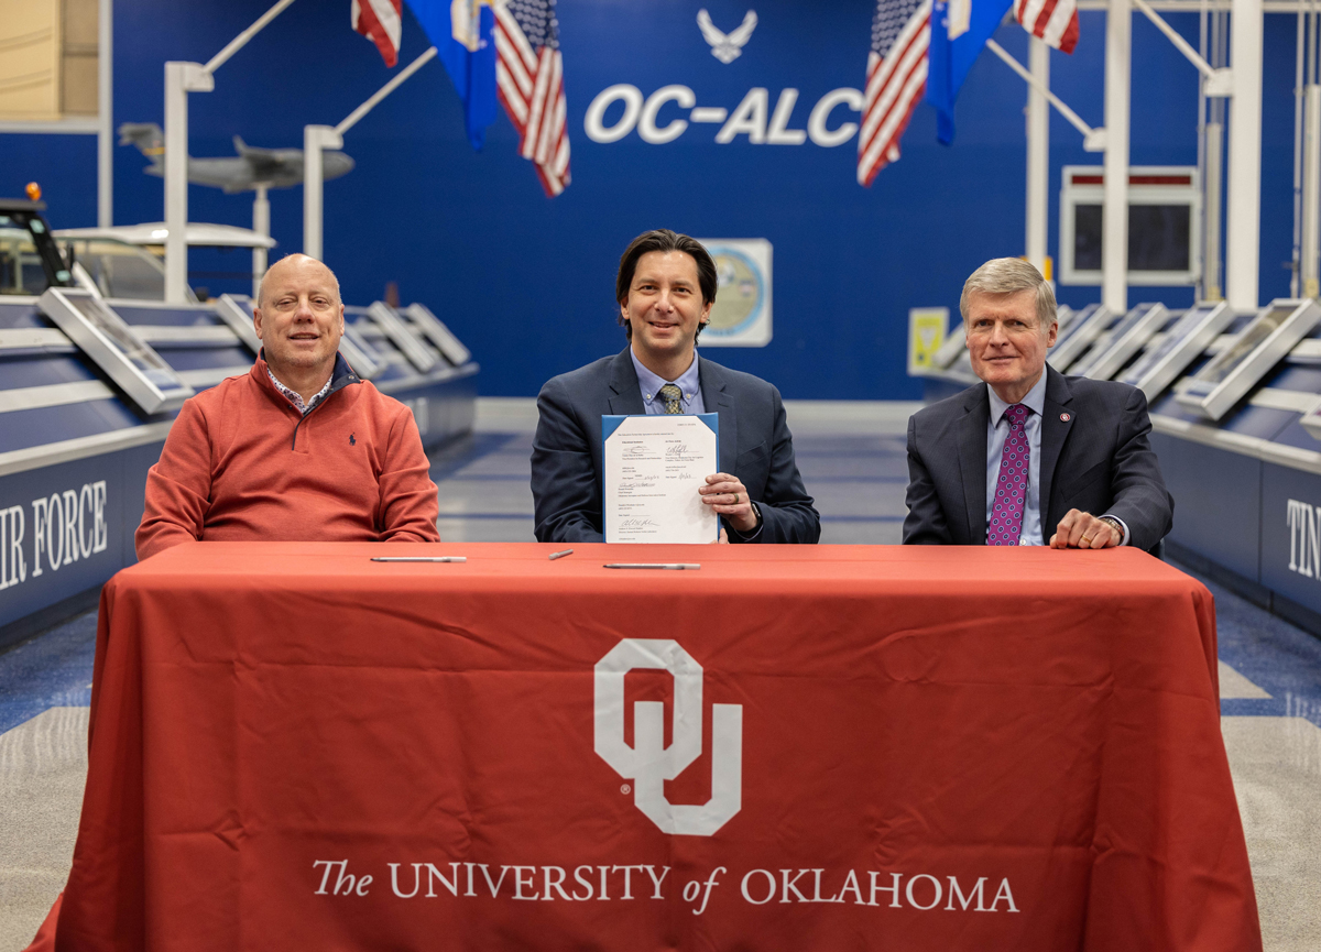
<path fill-rule="evenodd" d="M 1104 173 L 1099 165 L 1066 165 L 1061 181 L 1059 283 L 1099 285 Z M 1128 169 L 1128 284 L 1197 284 L 1202 277 L 1201 234 L 1197 166 Z"/>

